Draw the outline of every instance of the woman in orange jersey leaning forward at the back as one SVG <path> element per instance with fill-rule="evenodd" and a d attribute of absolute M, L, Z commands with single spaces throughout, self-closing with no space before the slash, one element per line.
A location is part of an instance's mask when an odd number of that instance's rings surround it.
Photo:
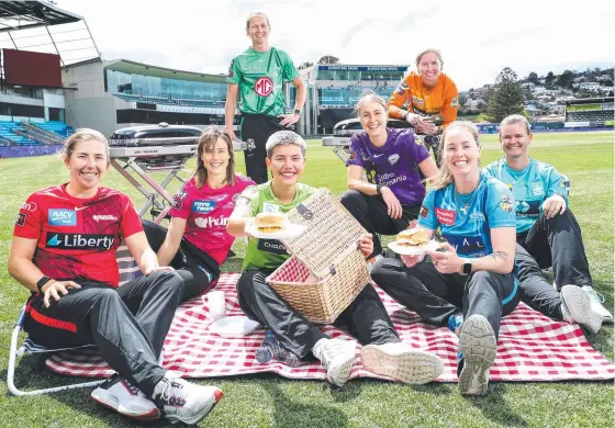
<path fill-rule="evenodd" d="M 444 72 L 439 50 L 426 49 L 416 56 L 418 74 L 411 71 L 391 94 L 387 106 L 389 116 L 404 119 L 423 135 L 425 147 L 434 149 L 440 167 L 438 145 L 443 129 L 457 119 L 459 92 Z M 407 104 L 407 110 L 404 105 Z"/>

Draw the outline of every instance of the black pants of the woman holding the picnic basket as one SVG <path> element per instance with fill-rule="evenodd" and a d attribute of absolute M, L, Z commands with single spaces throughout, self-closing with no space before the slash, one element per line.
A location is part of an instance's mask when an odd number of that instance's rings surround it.
<path fill-rule="evenodd" d="M 239 306 L 249 318 L 269 328 L 289 351 L 304 358 L 326 336 L 265 282 L 270 273 L 258 269 L 242 273 L 237 282 Z M 361 345 L 400 341 L 378 292 L 370 284 L 339 315 L 338 323 L 346 325 Z"/>

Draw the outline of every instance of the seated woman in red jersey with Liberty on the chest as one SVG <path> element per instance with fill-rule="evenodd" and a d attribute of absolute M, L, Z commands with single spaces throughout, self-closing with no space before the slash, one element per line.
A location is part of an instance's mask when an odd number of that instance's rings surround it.
<path fill-rule="evenodd" d="M 195 424 L 222 391 L 171 379 L 158 363 L 183 281 L 158 266 L 131 200 L 100 185 L 110 165 L 104 136 L 80 129 L 63 157 L 70 180 L 30 195 L 14 227 L 9 273 L 32 292 L 24 328 L 51 348 L 97 346 L 118 375 L 92 392 L 96 402 Z M 144 275 L 118 288 L 121 239 Z"/>

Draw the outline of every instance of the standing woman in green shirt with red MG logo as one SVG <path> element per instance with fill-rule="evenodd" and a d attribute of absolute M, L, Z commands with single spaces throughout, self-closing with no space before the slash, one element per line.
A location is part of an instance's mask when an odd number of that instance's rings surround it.
<path fill-rule="evenodd" d="M 246 174 L 257 184 L 267 181 L 267 138 L 299 121 L 308 93 L 303 79 L 292 59 L 283 50 L 269 45 L 269 19 L 262 12 L 250 13 L 246 19 L 246 34 L 251 47 L 231 61 L 226 82 L 228 91 L 225 105 L 226 133 L 237 139 L 233 131 L 233 119 L 241 93 L 242 139 L 247 143 Z M 292 81 L 297 89 L 294 110 L 286 112 L 284 81 Z"/>

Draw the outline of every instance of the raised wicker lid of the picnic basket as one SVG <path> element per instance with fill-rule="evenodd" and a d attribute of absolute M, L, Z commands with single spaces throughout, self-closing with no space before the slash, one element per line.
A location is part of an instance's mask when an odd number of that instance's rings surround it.
<path fill-rule="evenodd" d="M 339 261 L 357 250 L 359 236 L 366 233 L 328 189 L 318 189 L 287 216 L 291 223 L 304 225 L 306 229 L 299 236 L 280 240 L 320 279 L 335 273 Z"/>

